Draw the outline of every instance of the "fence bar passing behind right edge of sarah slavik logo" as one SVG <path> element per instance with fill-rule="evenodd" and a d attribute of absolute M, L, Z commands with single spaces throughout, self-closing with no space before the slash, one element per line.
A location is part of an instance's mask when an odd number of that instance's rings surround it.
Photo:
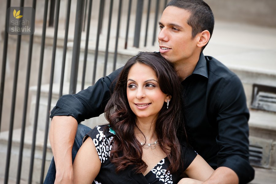
<path fill-rule="evenodd" d="M 36 10 L 36 0 L 33 0 L 32 7 L 34 10 Z M 28 63 L 27 63 L 26 83 L 25 83 L 24 107 L 23 107 L 23 115 L 22 115 L 21 138 L 20 138 L 18 165 L 17 165 L 17 177 L 16 177 L 17 184 L 20 183 L 20 177 L 21 177 L 22 156 L 23 156 L 26 116 L 27 116 L 28 96 L 29 96 L 29 83 L 30 83 L 30 74 L 31 74 L 31 63 L 32 63 L 32 52 L 33 52 L 33 34 L 30 35 L 30 40 L 29 40 L 29 53 L 28 53 Z"/>

